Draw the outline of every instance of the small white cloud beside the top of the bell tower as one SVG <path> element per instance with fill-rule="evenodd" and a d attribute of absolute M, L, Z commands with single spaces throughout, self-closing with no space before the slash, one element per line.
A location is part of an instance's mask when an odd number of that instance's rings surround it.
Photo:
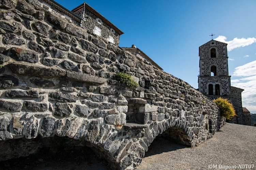
<path fill-rule="evenodd" d="M 227 37 L 223 36 L 223 35 L 219 35 L 217 38 L 215 38 L 214 40 L 216 41 L 221 41 L 223 43 L 227 43 L 227 50 L 231 51 L 235 48 L 239 48 L 239 47 L 245 47 L 245 46 L 249 46 L 253 43 L 256 43 L 256 38 L 254 37 L 249 37 L 249 38 L 234 38 L 231 41 L 226 41 Z"/>

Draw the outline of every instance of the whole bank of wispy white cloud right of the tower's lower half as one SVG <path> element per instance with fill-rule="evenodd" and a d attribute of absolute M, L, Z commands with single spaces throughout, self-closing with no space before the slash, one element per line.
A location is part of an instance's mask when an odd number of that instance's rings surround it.
<path fill-rule="evenodd" d="M 237 79 L 231 80 L 231 85 L 244 89 L 242 92 L 243 107 L 251 113 L 256 113 L 256 61 L 235 68 L 233 76 Z"/>

